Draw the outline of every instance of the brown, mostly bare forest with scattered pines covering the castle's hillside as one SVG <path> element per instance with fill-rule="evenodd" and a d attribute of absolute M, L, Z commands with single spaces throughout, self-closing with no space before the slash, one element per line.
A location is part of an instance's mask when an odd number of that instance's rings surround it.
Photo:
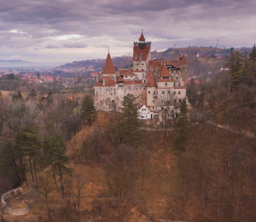
<path fill-rule="evenodd" d="M 255 45 L 231 50 L 210 79 L 192 78 L 191 107 L 183 100 L 169 128 L 145 126 L 130 94 L 120 113 L 106 113 L 87 91 L 44 88 L 38 104 L 31 87 L 0 94 L 0 194 L 22 186 L 41 195 L 1 222 L 256 220 Z"/>

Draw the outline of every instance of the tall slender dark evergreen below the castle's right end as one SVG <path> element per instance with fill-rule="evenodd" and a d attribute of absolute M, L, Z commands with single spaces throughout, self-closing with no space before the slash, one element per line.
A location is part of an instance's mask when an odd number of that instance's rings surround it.
<path fill-rule="evenodd" d="M 179 135 L 174 140 L 174 150 L 178 152 L 185 152 L 187 145 L 187 133 L 186 128 L 188 125 L 188 117 L 187 117 L 187 104 L 186 99 L 183 98 L 180 107 L 179 120 L 177 122 L 177 130 Z"/>

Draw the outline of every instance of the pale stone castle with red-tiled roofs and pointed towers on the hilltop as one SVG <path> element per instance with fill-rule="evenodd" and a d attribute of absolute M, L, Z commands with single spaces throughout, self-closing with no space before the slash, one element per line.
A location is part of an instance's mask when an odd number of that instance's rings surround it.
<path fill-rule="evenodd" d="M 133 44 L 132 69 L 115 71 L 108 52 L 107 59 L 95 89 L 95 107 L 102 111 L 119 111 L 124 96 L 132 94 L 139 104 L 141 119 L 152 119 L 163 109 L 179 107 L 186 96 L 186 57 L 177 61 L 151 60 L 151 41 L 141 33 Z M 171 115 L 171 113 L 170 113 Z M 169 118 L 169 117 L 168 117 Z"/>

